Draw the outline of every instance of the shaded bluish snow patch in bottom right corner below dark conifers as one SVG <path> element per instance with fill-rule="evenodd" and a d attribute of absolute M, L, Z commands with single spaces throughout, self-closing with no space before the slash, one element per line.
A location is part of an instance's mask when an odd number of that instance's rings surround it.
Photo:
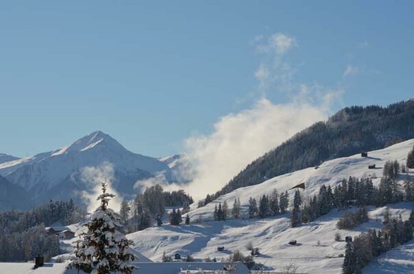
<path fill-rule="evenodd" d="M 363 273 L 414 273 L 414 240 L 381 254 L 363 269 Z"/>

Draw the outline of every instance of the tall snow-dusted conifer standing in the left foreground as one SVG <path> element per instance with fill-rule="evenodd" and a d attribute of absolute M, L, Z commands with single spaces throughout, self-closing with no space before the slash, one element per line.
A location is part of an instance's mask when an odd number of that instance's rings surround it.
<path fill-rule="evenodd" d="M 108 201 L 114 195 L 107 193 L 106 183 L 102 183 L 102 194 L 97 197 L 101 206 L 90 216 L 84 226 L 87 231 L 80 235 L 75 249 L 76 260 L 69 264 L 78 271 L 92 274 L 106 274 L 118 271 L 131 274 L 134 266 L 131 262 L 135 256 L 131 252 L 132 242 L 125 238 L 117 213 L 108 208 Z"/>

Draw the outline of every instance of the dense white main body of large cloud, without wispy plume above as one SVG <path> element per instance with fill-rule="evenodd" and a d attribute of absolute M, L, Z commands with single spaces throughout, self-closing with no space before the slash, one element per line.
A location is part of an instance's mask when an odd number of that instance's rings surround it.
<path fill-rule="evenodd" d="M 277 147 L 326 112 L 306 102 L 273 104 L 260 99 L 252 109 L 221 117 L 210 135 L 186 140 L 196 177 L 186 191 L 195 198 L 219 190 L 252 160 Z"/>

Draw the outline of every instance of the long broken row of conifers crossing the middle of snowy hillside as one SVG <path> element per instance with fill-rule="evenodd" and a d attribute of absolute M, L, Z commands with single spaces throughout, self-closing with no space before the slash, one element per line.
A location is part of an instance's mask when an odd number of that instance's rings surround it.
<path fill-rule="evenodd" d="M 349 177 L 343 179 L 341 184 L 332 188 L 322 185 L 319 188 L 319 194 L 312 198 L 303 199 L 300 190 L 295 191 L 291 210 L 291 226 L 297 227 L 302 223 L 309 223 L 319 216 L 327 214 L 333 208 L 346 209 L 350 206 L 358 206 L 355 214 L 345 213 L 343 216 L 344 227 L 352 227 L 360 223 L 365 218 L 358 215 L 366 210 L 364 206 L 385 206 L 387 203 L 398 203 L 400 201 L 414 201 L 414 181 L 406 178 L 404 185 L 400 186 L 396 179 L 399 168 L 398 162 L 388 162 L 388 175 L 382 177 L 378 187 L 374 186 L 372 179 Z M 388 169 L 388 167 L 387 167 Z M 263 195 L 258 203 L 255 198 L 249 198 L 249 218 L 266 218 L 268 216 L 277 216 L 287 212 L 289 207 L 289 193 L 282 192 L 280 195 L 277 190 L 273 190 L 271 195 Z M 216 221 L 225 221 L 228 217 L 239 219 L 241 217 L 241 205 L 239 199 L 234 199 L 233 208 L 229 212 L 226 201 L 215 206 L 214 219 Z M 340 224 L 342 226 L 342 224 Z"/>

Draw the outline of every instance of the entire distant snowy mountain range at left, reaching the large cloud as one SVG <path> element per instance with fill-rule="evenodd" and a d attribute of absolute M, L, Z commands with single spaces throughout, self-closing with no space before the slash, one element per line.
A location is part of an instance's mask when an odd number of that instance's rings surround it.
<path fill-rule="evenodd" d="M 117 192 L 131 197 L 138 192 L 134 184 L 141 179 L 162 175 L 167 182 L 182 183 L 180 167 L 188 164 L 185 161 L 182 155 L 157 159 L 132 153 L 100 131 L 88 134 L 68 147 L 32 157 L 0 154 L 0 189 L 7 189 L 10 197 L 26 197 L 24 202 L 18 202 L 21 199 L 10 202 L 0 195 L 0 210 L 27 208 L 49 199 L 72 198 L 82 203 L 80 192 L 91 188 L 87 182 L 90 178 L 84 174 L 86 167 L 101 167 L 102 173 L 106 174 L 100 176 L 104 179 L 109 176 Z"/>

